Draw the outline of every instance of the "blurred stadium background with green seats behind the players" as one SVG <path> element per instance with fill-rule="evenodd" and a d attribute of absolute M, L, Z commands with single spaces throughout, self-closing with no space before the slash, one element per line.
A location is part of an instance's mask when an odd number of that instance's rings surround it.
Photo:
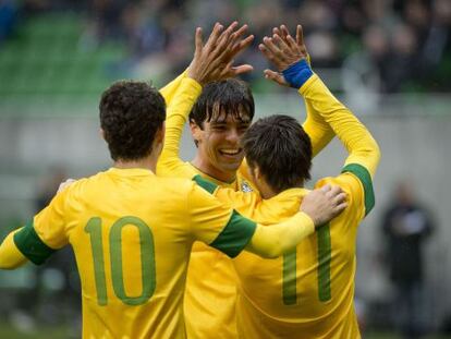
<path fill-rule="evenodd" d="M 431 334 L 451 337 L 443 334 L 451 318 L 449 0 L 0 1 L 1 238 L 36 211 L 42 185 L 54 192 L 51 175 L 80 178 L 109 166 L 97 117 L 108 84 L 141 78 L 162 86 L 190 62 L 196 26 L 207 33 L 216 21 L 235 19 L 256 36 L 239 61 L 255 68 L 245 80 L 257 118 L 304 117 L 293 90 L 263 78 L 268 65 L 257 51 L 272 26 L 301 23 L 314 70 L 379 142 L 377 205 L 361 227 L 357 252 L 356 298 L 368 338 L 392 326 L 380 222 L 401 179 L 414 185 L 437 225 L 425 249 L 424 322 Z M 185 133 L 183 157 L 194 152 Z M 315 159 L 312 182 L 338 173 L 344 157 L 333 142 Z M 52 267 L 0 273 L 0 337 L 77 337 L 77 277 Z"/>

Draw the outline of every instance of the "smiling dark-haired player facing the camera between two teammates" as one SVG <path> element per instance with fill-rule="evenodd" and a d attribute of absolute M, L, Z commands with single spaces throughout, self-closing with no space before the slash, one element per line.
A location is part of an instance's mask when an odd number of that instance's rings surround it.
<path fill-rule="evenodd" d="M 254 116 L 248 86 L 235 78 L 202 86 L 185 74 L 161 93 L 169 104 L 166 144 L 157 173 L 185 178 L 199 174 L 235 191 L 255 191 L 245 164 L 241 166 L 244 153 L 240 138 Z M 309 102 L 306 107 L 309 112 Z M 179 144 L 191 110 L 190 125 L 198 149 L 193 161 L 183 162 Z M 314 155 L 333 136 L 330 126 L 315 114 L 308 113 L 303 126 L 312 138 Z M 236 338 L 236 281 L 226 255 L 200 242 L 194 244 L 184 305 L 192 338 L 211 338 L 212 334 L 215 338 Z"/>

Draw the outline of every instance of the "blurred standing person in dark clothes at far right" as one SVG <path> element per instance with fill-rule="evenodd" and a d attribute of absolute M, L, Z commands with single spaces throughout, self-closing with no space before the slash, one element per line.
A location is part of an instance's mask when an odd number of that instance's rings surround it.
<path fill-rule="evenodd" d="M 426 332 L 423 245 L 432 232 L 428 211 L 416 201 L 412 185 L 401 182 L 383 217 L 387 262 L 394 287 L 393 323 L 404 338 Z"/>

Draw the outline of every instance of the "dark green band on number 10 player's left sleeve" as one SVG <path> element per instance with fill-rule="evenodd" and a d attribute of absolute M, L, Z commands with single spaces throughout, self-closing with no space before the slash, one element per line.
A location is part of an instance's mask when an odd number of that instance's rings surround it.
<path fill-rule="evenodd" d="M 14 243 L 32 263 L 42 264 L 56 250 L 47 246 L 33 227 L 33 220 L 14 234 Z"/>

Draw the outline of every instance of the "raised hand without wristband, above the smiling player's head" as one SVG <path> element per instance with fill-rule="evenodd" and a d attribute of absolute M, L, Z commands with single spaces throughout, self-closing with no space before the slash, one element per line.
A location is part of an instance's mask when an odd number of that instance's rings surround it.
<path fill-rule="evenodd" d="M 237 22 L 233 22 L 223 31 L 223 26 L 217 23 L 205 45 L 202 28 L 196 28 L 194 58 L 188 68 L 190 77 L 205 85 L 211 81 L 236 76 L 253 70 L 249 64 L 233 65 L 233 58 L 247 48 L 254 39 L 253 35 L 243 38 L 247 25 L 240 28 L 237 26 Z"/>

